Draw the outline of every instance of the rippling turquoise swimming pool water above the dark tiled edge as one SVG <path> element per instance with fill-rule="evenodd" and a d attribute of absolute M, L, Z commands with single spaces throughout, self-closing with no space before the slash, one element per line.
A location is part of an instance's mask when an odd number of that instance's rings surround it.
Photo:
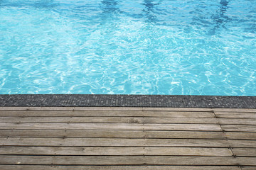
<path fill-rule="evenodd" d="M 0 94 L 256 96 L 256 1 L 0 0 Z"/>

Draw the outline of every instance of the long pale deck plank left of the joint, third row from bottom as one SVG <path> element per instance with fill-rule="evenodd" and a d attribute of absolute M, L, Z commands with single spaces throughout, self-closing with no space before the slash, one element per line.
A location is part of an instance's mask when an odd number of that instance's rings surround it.
<path fill-rule="evenodd" d="M 206 147 L 6 147 L 0 154 L 232 156 L 228 148 Z"/>

